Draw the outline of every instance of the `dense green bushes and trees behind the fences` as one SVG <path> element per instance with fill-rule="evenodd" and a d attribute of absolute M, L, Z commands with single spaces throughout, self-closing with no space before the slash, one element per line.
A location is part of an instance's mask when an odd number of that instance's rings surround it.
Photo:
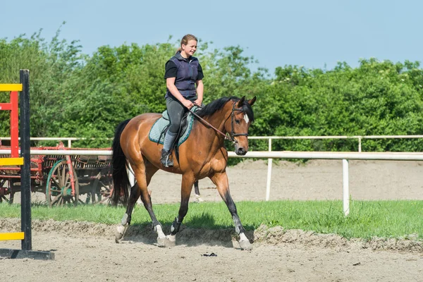
<path fill-rule="evenodd" d="M 30 69 L 31 135 L 92 137 L 75 147 L 109 147 L 116 125 L 145 112 L 166 109 L 164 64 L 178 44 L 101 46 L 82 54 L 77 41 L 50 42 L 37 32 L 0 39 L 0 83 L 16 83 Z M 171 37 L 169 38 L 169 40 Z M 168 41 L 169 41 L 168 40 Z M 200 40 L 204 103 L 223 96 L 257 96 L 250 135 L 423 134 L 423 71 L 418 62 L 362 59 L 333 70 L 283 66 L 271 77 L 252 66 L 239 46 L 210 49 Z M 1 94 L 1 102 L 8 95 Z M 0 135 L 8 136 L 8 113 L 0 112 Z M 103 138 L 103 139 L 99 139 Z M 255 150 L 266 142 L 251 142 Z M 423 140 L 363 140 L 366 151 L 419 151 Z M 356 151 L 353 140 L 278 140 L 273 149 Z"/>

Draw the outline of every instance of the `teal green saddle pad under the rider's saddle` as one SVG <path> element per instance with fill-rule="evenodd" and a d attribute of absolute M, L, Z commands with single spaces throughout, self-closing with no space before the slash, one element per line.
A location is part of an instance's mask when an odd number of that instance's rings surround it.
<path fill-rule="evenodd" d="M 198 107 L 194 106 L 192 108 L 192 111 L 197 111 Z M 152 128 L 149 131 L 148 137 L 149 140 L 156 142 L 156 143 L 160 143 L 163 144 L 164 142 L 164 134 L 162 134 L 164 128 L 166 128 L 167 125 L 169 125 L 171 123 L 171 120 L 168 116 L 168 112 L 167 110 L 163 112 L 163 114 L 161 114 L 162 117 L 159 118 L 152 126 Z M 192 129 L 192 123 L 194 123 L 194 115 L 191 113 L 188 113 L 187 116 L 187 122 L 188 125 L 185 128 L 185 131 L 183 133 L 181 133 L 180 138 L 178 140 L 178 146 L 180 146 L 183 142 L 185 142 L 185 140 L 188 139 L 188 136 L 190 136 L 191 133 L 191 129 Z"/>

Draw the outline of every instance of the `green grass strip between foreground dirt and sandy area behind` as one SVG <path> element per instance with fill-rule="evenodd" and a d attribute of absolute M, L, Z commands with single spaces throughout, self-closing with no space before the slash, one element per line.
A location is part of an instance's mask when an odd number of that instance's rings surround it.
<path fill-rule="evenodd" d="M 154 204 L 157 219 L 170 225 L 178 214 L 179 204 Z M 343 215 L 342 201 L 276 201 L 238 202 L 238 214 L 245 229 L 253 230 L 264 223 L 269 227 L 302 229 L 317 233 L 336 233 L 344 238 L 423 239 L 423 201 L 357 201 L 350 202 L 350 215 Z M 32 205 L 32 219 L 56 221 L 92 221 L 116 224 L 125 208 L 104 205 L 48 208 Z M 0 218 L 20 217 L 20 205 L 0 204 Z M 142 205 L 135 206 L 132 224 L 150 224 Z M 233 221 L 223 202 L 192 203 L 184 224 L 198 228 L 232 228 Z"/>

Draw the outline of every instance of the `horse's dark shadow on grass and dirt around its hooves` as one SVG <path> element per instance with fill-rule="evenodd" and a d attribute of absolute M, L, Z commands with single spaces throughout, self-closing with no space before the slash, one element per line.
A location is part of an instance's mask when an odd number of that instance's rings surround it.
<path fill-rule="evenodd" d="M 172 221 L 162 221 L 165 234 L 171 232 Z M 254 228 L 245 226 L 245 235 L 250 238 L 254 236 Z M 238 248 L 238 235 L 234 227 L 217 224 L 214 217 L 204 212 L 201 216 L 192 216 L 185 218 L 176 235 L 176 245 L 187 245 L 188 247 L 196 245 L 219 245 L 222 247 Z M 123 242 L 136 242 L 154 245 L 157 243 L 157 233 L 152 230 L 149 223 L 135 223 L 129 226 L 125 233 Z"/>

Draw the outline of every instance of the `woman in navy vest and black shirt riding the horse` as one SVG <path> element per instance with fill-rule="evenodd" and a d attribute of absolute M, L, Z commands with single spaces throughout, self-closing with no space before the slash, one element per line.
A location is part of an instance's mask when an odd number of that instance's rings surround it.
<path fill-rule="evenodd" d="M 197 38 L 185 35 L 180 40 L 180 48 L 176 54 L 166 62 L 164 78 L 166 79 L 166 107 L 171 120 L 164 145 L 161 150 L 161 164 L 173 166 L 169 159 L 173 142 L 178 134 L 180 121 L 192 106 L 201 106 L 204 92 L 202 79 L 204 78 L 200 62 L 195 58 Z"/>

